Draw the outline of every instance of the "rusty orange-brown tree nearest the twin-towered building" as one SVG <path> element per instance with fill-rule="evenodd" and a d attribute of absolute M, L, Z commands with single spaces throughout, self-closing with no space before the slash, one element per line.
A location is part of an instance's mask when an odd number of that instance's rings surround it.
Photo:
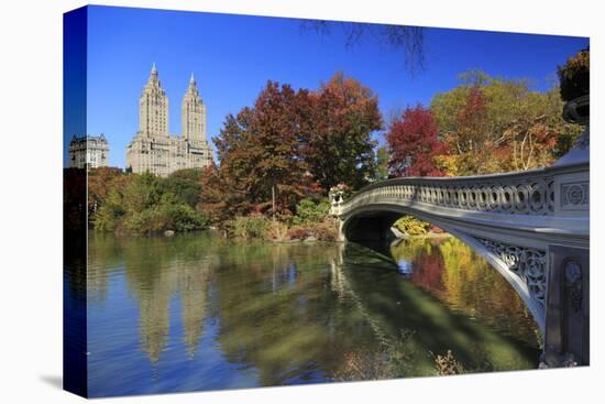
<path fill-rule="evenodd" d="M 301 157 L 302 131 L 311 122 L 307 90 L 267 81 L 253 108 L 228 116 L 213 139 L 219 165 L 209 171 L 201 206 L 221 219 L 252 211 L 290 214 L 315 192 L 307 162 Z M 217 211 L 220 210 L 220 211 Z"/>

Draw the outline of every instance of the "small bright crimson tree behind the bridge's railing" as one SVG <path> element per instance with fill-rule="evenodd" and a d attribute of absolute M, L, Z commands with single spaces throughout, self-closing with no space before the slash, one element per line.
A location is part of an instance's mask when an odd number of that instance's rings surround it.
<path fill-rule="evenodd" d="M 437 123 L 430 110 L 418 105 L 407 108 L 393 120 L 386 141 L 391 152 L 388 168 L 399 176 L 441 176 L 436 156 L 446 153 L 437 135 Z"/>

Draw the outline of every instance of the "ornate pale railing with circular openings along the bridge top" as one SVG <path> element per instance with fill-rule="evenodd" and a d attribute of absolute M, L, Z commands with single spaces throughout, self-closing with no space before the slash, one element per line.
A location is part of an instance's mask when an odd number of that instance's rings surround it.
<path fill-rule="evenodd" d="M 402 177 L 371 184 L 346 199 L 337 194 L 331 212 L 346 216 L 395 201 L 448 216 L 506 216 L 514 223 L 582 233 L 588 230 L 588 189 L 587 164 L 469 177 Z M 578 221 L 579 216 L 585 220 Z"/>

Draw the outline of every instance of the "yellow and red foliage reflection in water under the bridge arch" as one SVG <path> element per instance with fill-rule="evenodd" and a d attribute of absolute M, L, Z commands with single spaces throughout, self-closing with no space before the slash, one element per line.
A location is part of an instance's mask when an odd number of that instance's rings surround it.
<path fill-rule="evenodd" d="M 410 239 L 392 247 L 406 276 L 450 308 L 528 345 L 538 343 L 531 314 L 506 280 L 453 237 Z"/>

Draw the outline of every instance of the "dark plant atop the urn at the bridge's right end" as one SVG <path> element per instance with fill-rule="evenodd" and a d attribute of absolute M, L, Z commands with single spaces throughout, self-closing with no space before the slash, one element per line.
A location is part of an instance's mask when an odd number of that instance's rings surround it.
<path fill-rule="evenodd" d="M 586 95 L 590 91 L 591 51 L 583 50 L 568 58 L 564 66 L 559 66 L 560 91 L 563 101 Z"/>

